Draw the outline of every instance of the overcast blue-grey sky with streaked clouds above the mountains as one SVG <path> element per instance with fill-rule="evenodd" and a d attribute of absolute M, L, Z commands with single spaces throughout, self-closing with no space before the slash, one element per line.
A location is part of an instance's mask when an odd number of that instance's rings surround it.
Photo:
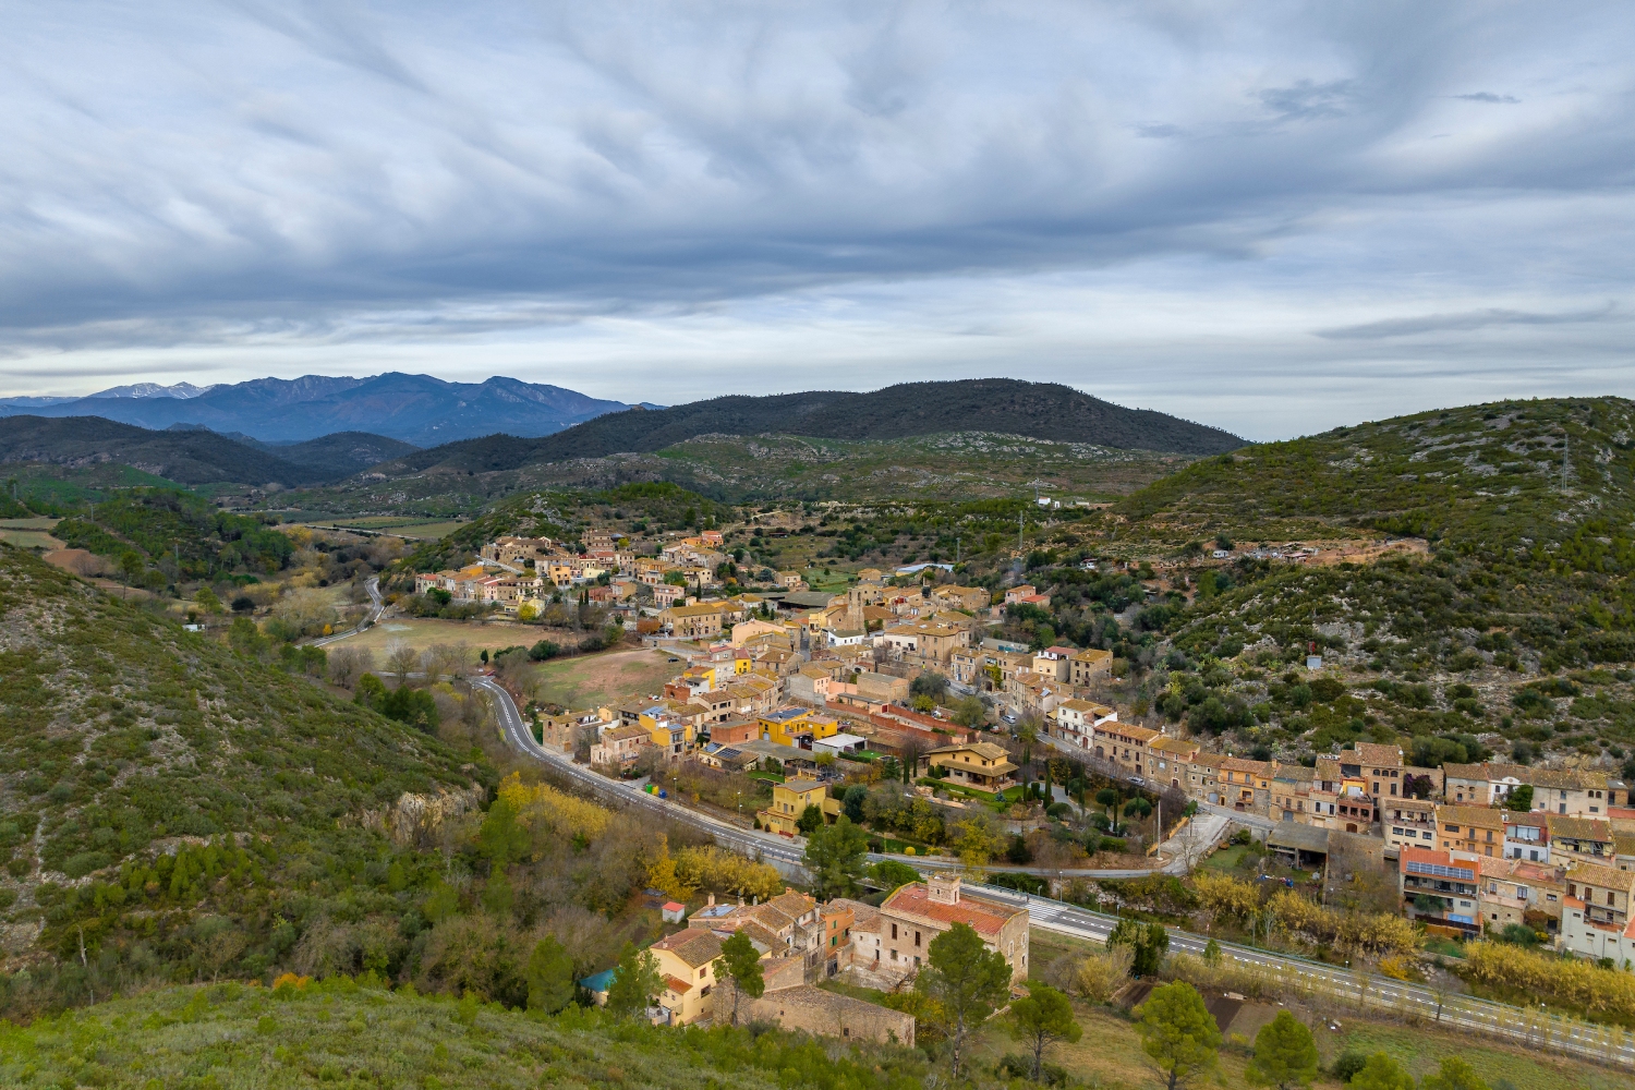
<path fill-rule="evenodd" d="M 0 395 L 1635 395 L 1620 3 L 7 8 Z"/>

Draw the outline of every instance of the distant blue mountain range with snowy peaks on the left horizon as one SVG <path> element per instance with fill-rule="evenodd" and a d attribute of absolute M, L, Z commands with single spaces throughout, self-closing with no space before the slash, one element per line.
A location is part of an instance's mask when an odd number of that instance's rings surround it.
<path fill-rule="evenodd" d="M 445 382 L 428 374 L 368 379 L 252 379 L 196 387 L 139 382 L 90 397 L 0 400 L 0 415 L 103 417 L 141 428 L 177 423 L 253 435 L 262 441 L 316 440 L 335 431 L 370 431 L 414 446 L 437 446 L 504 431 L 541 436 L 629 405 L 587 397 L 561 386 L 490 377 Z"/>

